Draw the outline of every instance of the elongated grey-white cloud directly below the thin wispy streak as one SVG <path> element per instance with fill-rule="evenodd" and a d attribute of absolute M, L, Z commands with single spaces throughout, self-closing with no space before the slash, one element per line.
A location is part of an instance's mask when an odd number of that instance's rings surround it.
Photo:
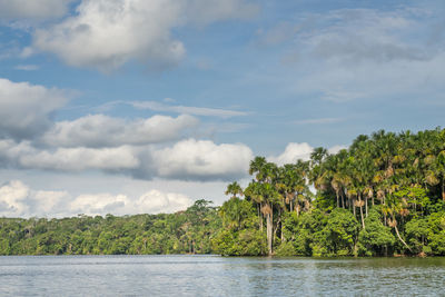
<path fill-rule="evenodd" d="M 117 147 L 148 145 L 175 140 L 198 125 L 198 119 L 181 115 L 177 118 L 154 116 L 125 120 L 103 115 L 56 122 L 41 141 L 53 147 Z"/>

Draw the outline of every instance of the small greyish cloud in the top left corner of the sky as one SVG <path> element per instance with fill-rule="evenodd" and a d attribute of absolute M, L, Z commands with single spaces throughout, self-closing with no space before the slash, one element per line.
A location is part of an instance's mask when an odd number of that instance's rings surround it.
<path fill-rule="evenodd" d="M 62 17 L 73 0 L 0 0 L 0 19 Z"/>

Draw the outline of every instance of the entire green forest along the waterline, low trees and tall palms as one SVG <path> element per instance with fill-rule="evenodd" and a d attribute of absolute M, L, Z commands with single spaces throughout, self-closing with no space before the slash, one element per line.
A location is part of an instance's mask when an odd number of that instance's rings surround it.
<path fill-rule="evenodd" d="M 256 157 L 251 181 L 220 207 L 171 215 L 0 219 L 1 255 L 445 255 L 445 130 L 358 136 L 277 166 Z M 309 190 L 315 188 L 315 194 Z"/>

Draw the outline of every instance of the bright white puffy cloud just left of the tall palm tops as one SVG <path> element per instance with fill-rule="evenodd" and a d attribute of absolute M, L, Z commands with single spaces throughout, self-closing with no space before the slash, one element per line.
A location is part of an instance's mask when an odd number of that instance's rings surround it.
<path fill-rule="evenodd" d="M 241 143 L 188 139 L 154 151 L 152 159 L 159 177 L 233 180 L 246 176 L 253 152 Z"/>

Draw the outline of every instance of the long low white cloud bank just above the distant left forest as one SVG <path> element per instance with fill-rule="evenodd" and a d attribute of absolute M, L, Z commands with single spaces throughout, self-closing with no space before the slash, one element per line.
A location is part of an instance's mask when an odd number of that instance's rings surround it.
<path fill-rule="evenodd" d="M 62 217 L 83 215 L 136 215 L 185 210 L 192 200 L 182 194 L 149 190 L 138 198 L 123 194 L 82 194 L 34 190 L 20 180 L 0 186 L 0 216 Z"/>

